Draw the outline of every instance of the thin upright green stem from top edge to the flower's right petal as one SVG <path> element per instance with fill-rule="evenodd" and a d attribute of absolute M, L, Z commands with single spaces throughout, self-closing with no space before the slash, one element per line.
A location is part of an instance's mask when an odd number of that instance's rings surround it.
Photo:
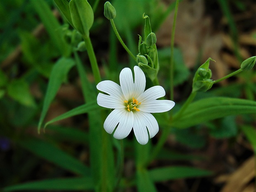
<path fill-rule="evenodd" d="M 171 100 L 173 101 L 173 65 L 174 65 L 174 60 L 173 60 L 173 48 L 174 48 L 174 35 L 175 35 L 175 27 L 176 27 L 176 18 L 177 18 L 177 13 L 178 13 L 178 6 L 179 6 L 179 0 L 176 0 L 176 5 L 175 5 L 175 12 L 174 12 L 174 18 L 173 18 L 173 29 L 171 33 L 171 68 L 170 68 L 170 95 L 171 95 Z"/>

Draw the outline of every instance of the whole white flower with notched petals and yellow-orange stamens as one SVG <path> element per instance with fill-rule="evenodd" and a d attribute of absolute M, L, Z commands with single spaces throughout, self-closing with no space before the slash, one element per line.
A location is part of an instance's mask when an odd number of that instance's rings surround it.
<path fill-rule="evenodd" d="M 99 93 L 98 105 L 114 109 L 104 122 L 107 133 L 114 132 L 116 139 L 127 137 L 133 128 L 137 141 L 145 145 L 159 130 L 158 123 L 151 113 L 169 111 L 175 105 L 170 100 L 156 100 L 164 97 L 161 86 L 145 90 L 146 78 L 140 67 L 134 67 L 135 81 L 129 68 L 124 68 L 119 76 L 120 85 L 113 81 L 102 81 L 97 89 L 108 95 Z M 144 91 L 145 90 L 145 91 Z"/>

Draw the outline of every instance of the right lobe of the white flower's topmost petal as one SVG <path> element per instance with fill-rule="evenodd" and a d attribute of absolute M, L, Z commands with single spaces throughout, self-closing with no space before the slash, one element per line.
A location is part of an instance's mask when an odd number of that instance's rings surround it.
<path fill-rule="evenodd" d="M 137 99 L 138 96 L 144 92 L 146 87 L 146 77 L 143 71 L 138 66 L 134 66 L 134 95 Z"/>

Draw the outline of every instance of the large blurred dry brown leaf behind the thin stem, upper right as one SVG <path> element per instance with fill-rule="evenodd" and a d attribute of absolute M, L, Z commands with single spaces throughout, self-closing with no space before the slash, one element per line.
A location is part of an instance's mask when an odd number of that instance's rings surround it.
<path fill-rule="evenodd" d="M 170 46 L 171 31 L 173 26 L 173 13 L 166 19 L 157 35 L 158 46 Z M 202 61 L 209 57 L 216 60 L 211 65 L 214 78 L 226 75 L 226 66 L 220 57 L 223 40 L 220 33 L 214 32 L 210 17 L 204 14 L 204 2 L 201 0 L 184 0 L 180 2 L 176 29 L 175 45 L 183 52 L 185 64 L 192 68 L 196 64 L 199 52 L 202 50 Z"/>

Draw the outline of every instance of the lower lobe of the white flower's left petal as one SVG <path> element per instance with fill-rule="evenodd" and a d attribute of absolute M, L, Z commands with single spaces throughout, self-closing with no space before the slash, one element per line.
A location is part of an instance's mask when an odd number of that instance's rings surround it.
<path fill-rule="evenodd" d="M 106 107 L 109 109 L 120 109 L 124 108 L 124 100 L 121 98 L 117 98 L 116 96 L 111 95 L 105 95 L 102 93 L 99 93 L 97 96 L 97 103 L 101 107 Z"/>

